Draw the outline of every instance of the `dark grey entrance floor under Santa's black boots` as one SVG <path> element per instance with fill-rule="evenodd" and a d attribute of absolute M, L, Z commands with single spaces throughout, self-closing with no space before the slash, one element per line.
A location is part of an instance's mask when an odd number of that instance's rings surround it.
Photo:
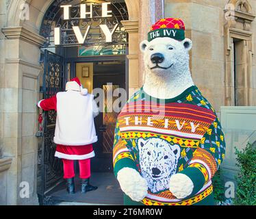
<path fill-rule="evenodd" d="M 80 179 L 75 179 L 76 193 L 68 194 L 62 183 L 50 194 L 57 205 L 123 205 L 123 192 L 113 173 L 92 173 L 90 183 L 97 185 L 98 190 L 81 194 Z"/>

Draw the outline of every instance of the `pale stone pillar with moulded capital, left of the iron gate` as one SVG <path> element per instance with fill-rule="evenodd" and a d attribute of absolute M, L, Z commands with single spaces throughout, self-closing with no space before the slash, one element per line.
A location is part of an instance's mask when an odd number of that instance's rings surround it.
<path fill-rule="evenodd" d="M 8 205 L 34 205 L 36 193 L 37 107 L 40 45 L 44 38 L 24 27 L 5 27 L 3 73 L 3 154 L 12 157 L 8 170 Z M 25 183 L 21 183 L 25 182 Z M 29 185 L 29 198 L 19 186 Z"/>

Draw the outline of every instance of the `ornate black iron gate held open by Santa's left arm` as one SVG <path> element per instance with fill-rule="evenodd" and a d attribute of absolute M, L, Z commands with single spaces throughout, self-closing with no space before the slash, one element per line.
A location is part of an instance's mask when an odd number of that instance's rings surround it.
<path fill-rule="evenodd" d="M 64 90 L 66 84 L 66 62 L 64 57 L 44 50 L 42 77 L 42 98 L 51 96 Z M 56 145 L 53 142 L 55 132 L 56 112 L 43 114 L 43 131 L 38 147 L 38 197 L 41 205 L 47 204 L 47 192 L 62 182 L 62 161 L 54 157 Z"/>

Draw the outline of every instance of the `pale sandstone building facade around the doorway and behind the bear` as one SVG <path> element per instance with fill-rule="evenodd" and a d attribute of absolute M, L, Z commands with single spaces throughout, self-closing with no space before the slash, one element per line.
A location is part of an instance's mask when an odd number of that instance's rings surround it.
<path fill-rule="evenodd" d="M 38 109 L 40 36 L 54 0 L 0 0 L 0 204 L 38 204 Z M 29 18 L 21 18 L 24 3 Z M 129 94 L 143 84 L 139 42 L 162 17 L 182 18 L 194 47 L 194 82 L 220 114 L 220 106 L 256 105 L 255 0 L 125 0 L 129 20 Z M 23 6 L 21 6 L 23 5 Z M 221 115 L 220 115 L 221 116 Z M 0 157 L 1 158 L 1 157 Z M 29 183 L 29 198 L 21 195 Z"/>

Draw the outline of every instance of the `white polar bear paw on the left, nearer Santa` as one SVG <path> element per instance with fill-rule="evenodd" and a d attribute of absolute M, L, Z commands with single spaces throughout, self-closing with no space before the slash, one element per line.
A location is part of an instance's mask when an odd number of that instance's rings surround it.
<path fill-rule="evenodd" d="M 148 183 L 132 168 L 123 168 L 117 173 L 120 187 L 133 201 L 142 201 L 148 194 Z"/>

